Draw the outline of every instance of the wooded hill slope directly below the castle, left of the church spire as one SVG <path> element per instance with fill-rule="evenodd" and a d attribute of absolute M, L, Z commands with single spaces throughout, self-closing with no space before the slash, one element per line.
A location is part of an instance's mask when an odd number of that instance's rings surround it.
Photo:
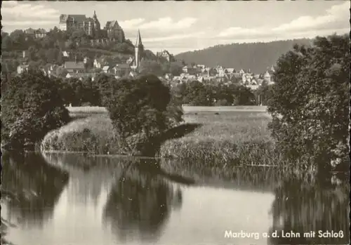
<path fill-rule="evenodd" d="M 1 51 L 2 66 L 8 72 L 15 72 L 23 62 L 31 67 L 43 67 L 48 63 L 62 65 L 65 61 L 62 51 L 69 51 L 71 56 L 77 55 L 82 60 L 84 57 L 93 59 L 106 52 L 119 56 L 133 55 L 134 46 L 128 39 L 123 42 L 108 39 L 92 41 L 83 30 L 62 31 L 55 27 L 42 38 L 35 38 L 21 29 L 1 32 Z"/>

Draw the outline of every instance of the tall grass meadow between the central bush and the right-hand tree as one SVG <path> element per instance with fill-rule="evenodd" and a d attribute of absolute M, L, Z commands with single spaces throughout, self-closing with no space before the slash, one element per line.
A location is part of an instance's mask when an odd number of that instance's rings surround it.
<path fill-rule="evenodd" d="M 211 168 L 242 165 L 274 165 L 281 161 L 267 131 L 270 116 L 265 112 L 195 112 L 185 121 L 201 128 L 161 147 L 161 156 L 206 164 Z"/>

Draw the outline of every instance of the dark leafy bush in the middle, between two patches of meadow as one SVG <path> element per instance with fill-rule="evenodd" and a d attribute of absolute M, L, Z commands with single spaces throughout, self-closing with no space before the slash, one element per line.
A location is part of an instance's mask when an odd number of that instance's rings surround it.
<path fill-rule="evenodd" d="M 103 105 L 126 153 L 140 152 L 140 147 L 145 147 L 150 138 L 181 120 L 183 112 L 179 107 L 168 107 L 171 102 L 169 88 L 154 75 L 132 81 L 111 77 L 105 77 L 105 80 L 100 90 Z"/>

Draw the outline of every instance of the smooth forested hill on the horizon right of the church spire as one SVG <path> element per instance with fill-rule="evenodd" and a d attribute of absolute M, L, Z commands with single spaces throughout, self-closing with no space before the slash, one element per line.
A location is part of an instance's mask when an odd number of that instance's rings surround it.
<path fill-rule="evenodd" d="M 190 51 L 175 55 L 177 60 L 184 60 L 216 67 L 222 65 L 227 68 L 251 69 L 252 72 L 265 72 L 277 59 L 293 48 L 294 44 L 311 44 L 312 39 L 294 39 L 286 41 L 272 41 L 269 43 L 226 44 L 205 48 L 200 51 Z"/>

